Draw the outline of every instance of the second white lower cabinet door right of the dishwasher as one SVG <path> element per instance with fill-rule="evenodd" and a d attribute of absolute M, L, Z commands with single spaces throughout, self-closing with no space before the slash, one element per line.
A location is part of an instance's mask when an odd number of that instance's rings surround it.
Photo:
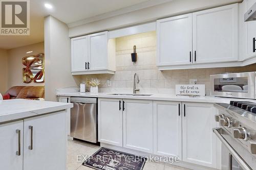
<path fill-rule="evenodd" d="M 124 100 L 123 147 L 153 153 L 153 101 Z"/>

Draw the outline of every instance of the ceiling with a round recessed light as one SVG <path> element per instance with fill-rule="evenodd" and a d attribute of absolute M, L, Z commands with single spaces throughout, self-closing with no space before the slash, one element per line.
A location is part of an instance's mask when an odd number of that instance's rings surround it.
<path fill-rule="evenodd" d="M 97 20 L 97 16 L 98 19 L 103 19 L 169 1 L 172 0 L 32 0 L 30 1 L 30 35 L 0 35 L 0 48 L 8 50 L 44 41 L 44 17 L 47 15 L 74 26 L 76 21 L 90 22 L 89 18 L 92 17 L 96 17 L 94 20 Z M 45 3 L 51 4 L 53 8 L 46 9 Z"/>

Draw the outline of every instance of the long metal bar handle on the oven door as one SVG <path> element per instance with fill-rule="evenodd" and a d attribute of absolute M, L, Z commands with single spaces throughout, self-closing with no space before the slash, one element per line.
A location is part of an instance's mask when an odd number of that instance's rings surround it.
<path fill-rule="evenodd" d="M 238 161 L 238 163 L 240 164 L 240 166 L 243 169 L 245 169 L 245 170 L 252 170 L 252 168 L 250 168 L 247 165 L 247 163 L 243 160 L 243 158 L 241 158 L 241 156 L 231 147 L 231 145 L 227 142 L 227 140 L 221 135 L 219 130 L 223 131 L 222 128 L 214 128 L 213 129 L 214 133 L 221 140 L 221 142 L 227 147 L 227 149 L 229 150 L 230 154 L 234 157 L 234 159 L 236 159 Z"/>

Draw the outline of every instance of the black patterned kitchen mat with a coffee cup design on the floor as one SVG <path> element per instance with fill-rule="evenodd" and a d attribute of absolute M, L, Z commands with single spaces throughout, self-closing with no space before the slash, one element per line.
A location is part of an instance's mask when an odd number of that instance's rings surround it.
<path fill-rule="evenodd" d="M 104 170 L 141 170 L 145 161 L 146 158 L 141 156 L 101 148 L 82 165 Z"/>

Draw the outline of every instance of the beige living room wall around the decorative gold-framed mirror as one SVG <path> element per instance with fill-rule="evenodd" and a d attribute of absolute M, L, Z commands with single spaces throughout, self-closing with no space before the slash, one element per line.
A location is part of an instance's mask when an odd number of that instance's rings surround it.
<path fill-rule="evenodd" d="M 26 52 L 33 51 L 27 54 Z M 22 58 L 45 53 L 44 42 L 13 48 L 8 50 L 8 89 L 12 86 L 44 86 L 45 83 L 23 83 Z"/>

